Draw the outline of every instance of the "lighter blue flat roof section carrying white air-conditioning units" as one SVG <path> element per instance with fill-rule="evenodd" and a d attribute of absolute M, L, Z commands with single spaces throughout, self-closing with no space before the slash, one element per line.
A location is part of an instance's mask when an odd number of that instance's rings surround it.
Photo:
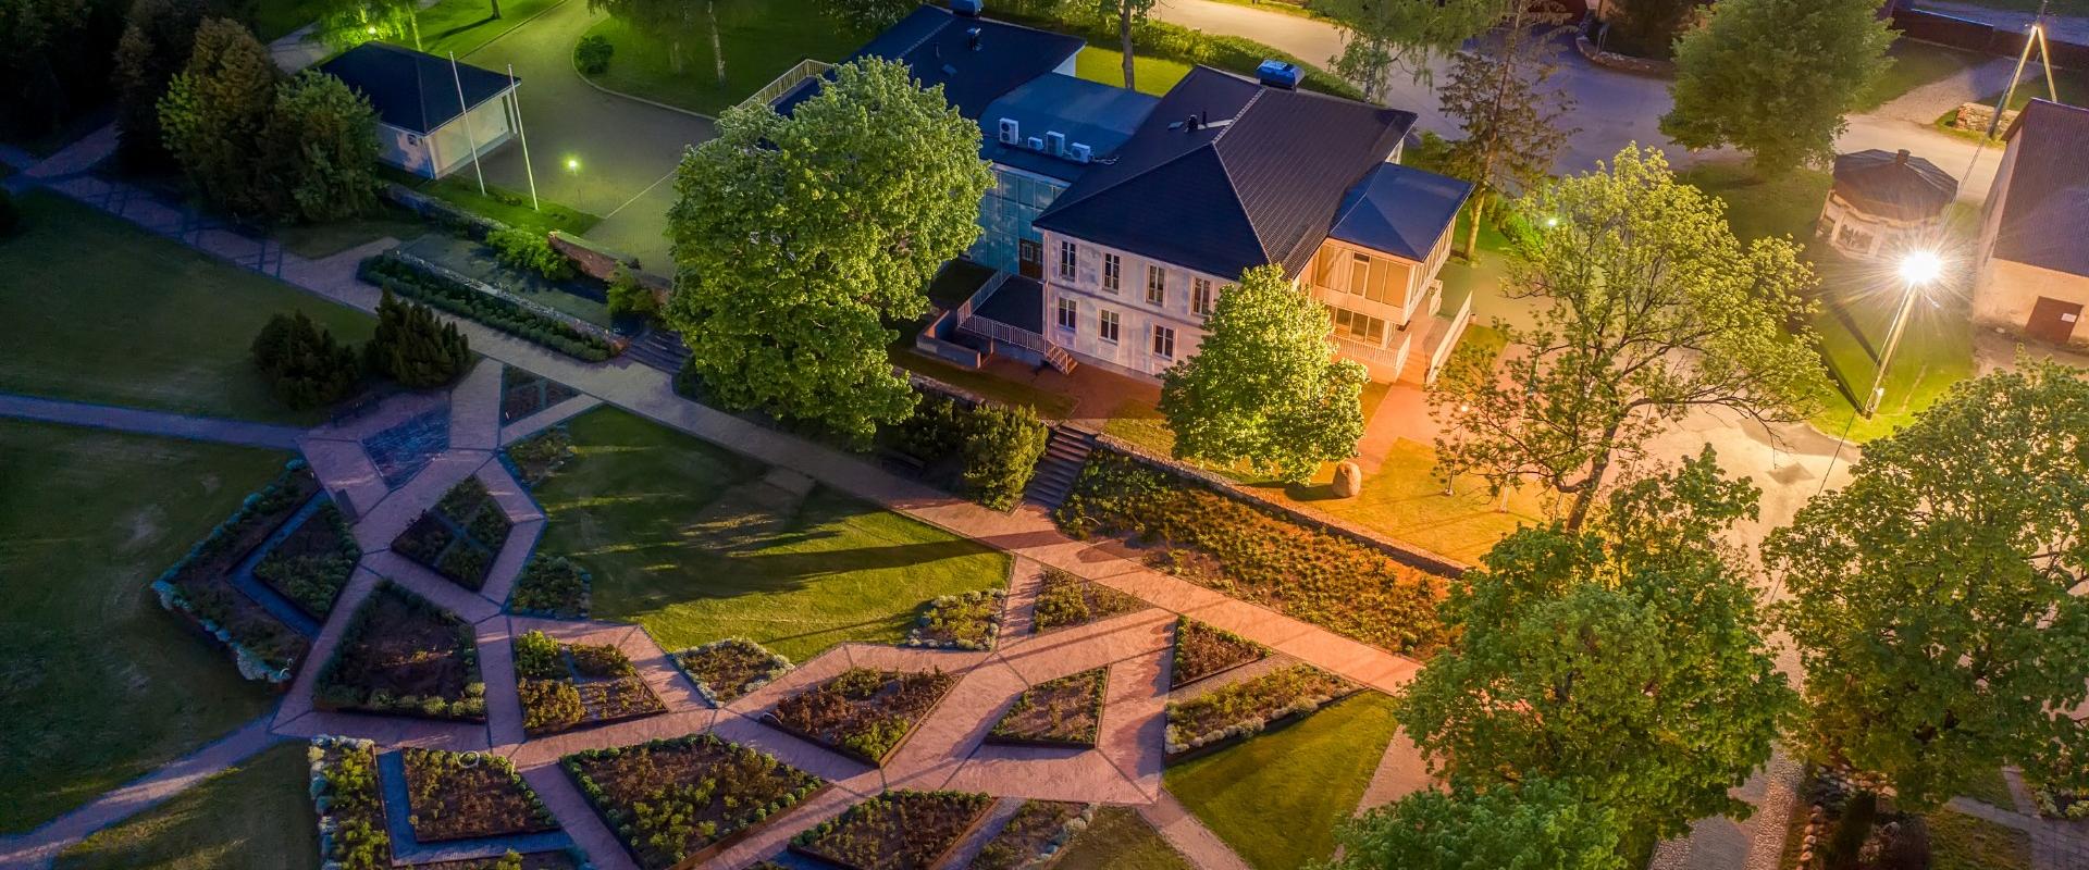
<path fill-rule="evenodd" d="M 986 106 L 980 117 L 980 156 L 1061 182 L 1076 182 L 1093 163 L 1030 150 L 1026 144 L 1001 144 L 1001 119 L 1013 119 L 1024 140 L 1065 134 L 1065 142 L 1086 144 L 1097 159 L 1124 146 L 1139 123 L 1153 115 L 1157 96 L 1113 88 L 1072 75 L 1040 75 Z"/>

